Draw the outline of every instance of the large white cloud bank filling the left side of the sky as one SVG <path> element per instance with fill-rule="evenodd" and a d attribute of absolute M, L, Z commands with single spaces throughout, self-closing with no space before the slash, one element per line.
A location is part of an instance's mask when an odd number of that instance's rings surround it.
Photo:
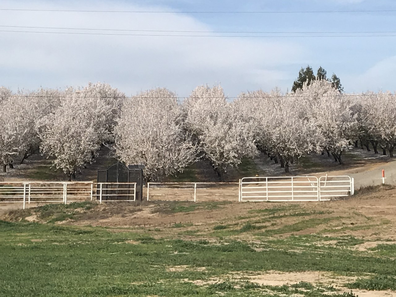
<path fill-rule="evenodd" d="M 2 1 L 8 8 L 166 10 L 125 2 Z M 145 30 L 213 30 L 181 14 L 0 11 L 1 25 Z M 8 28 L 1 28 L 10 30 Z M 15 30 L 15 29 L 11 29 Z M 23 29 L 22 29 L 23 30 Z M 38 30 L 38 29 L 26 29 Z M 48 31 L 48 30 L 47 30 Z M 59 31 L 59 30 L 55 30 Z M 122 32 L 120 32 L 122 33 Z M 128 33 L 128 32 L 127 32 Z M 134 32 L 129 32 L 134 33 Z M 155 33 L 154 33 L 155 34 Z M 13 88 L 108 82 L 135 93 L 165 86 L 188 95 L 199 84 L 221 82 L 226 92 L 286 89 L 282 67 L 309 53 L 299 44 L 251 38 L 91 36 L 0 32 L 0 84 Z"/>

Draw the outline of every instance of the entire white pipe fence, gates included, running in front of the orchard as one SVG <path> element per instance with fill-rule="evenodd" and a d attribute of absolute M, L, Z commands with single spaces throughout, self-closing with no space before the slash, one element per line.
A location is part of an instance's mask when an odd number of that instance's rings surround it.
<path fill-rule="evenodd" d="M 238 187 L 236 187 L 238 185 Z M 0 204 L 136 201 L 136 183 L 0 182 Z M 238 192 L 237 192 L 238 191 Z M 147 183 L 147 201 L 327 201 L 354 194 L 349 176 L 244 177 L 238 183 Z M 161 197 L 162 196 L 162 197 Z M 204 198 L 207 197 L 207 198 Z"/>

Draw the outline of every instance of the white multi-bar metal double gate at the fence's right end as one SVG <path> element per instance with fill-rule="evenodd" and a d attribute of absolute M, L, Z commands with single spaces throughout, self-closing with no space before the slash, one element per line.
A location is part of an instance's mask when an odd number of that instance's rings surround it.
<path fill-rule="evenodd" d="M 244 177 L 240 202 L 328 201 L 354 194 L 349 176 Z"/>

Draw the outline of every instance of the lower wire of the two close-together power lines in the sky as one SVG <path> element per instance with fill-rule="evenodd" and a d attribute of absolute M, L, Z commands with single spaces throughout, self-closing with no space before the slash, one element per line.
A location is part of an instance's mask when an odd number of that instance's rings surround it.
<path fill-rule="evenodd" d="M 106 36 L 162 36 L 162 37 L 240 37 L 240 38 L 264 38 L 264 37 L 279 37 L 279 38 L 306 38 L 306 37 L 396 37 L 396 34 L 382 34 L 382 35 L 181 35 L 181 34 L 115 34 L 115 33 L 93 33 L 93 32 L 49 32 L 49 31 L 27 31 L 27 30 L 0 30 L 0 32 L 13 33 L 42 33 L 42 34 L 74 34 L 74 35 L 106 35 Z"/>

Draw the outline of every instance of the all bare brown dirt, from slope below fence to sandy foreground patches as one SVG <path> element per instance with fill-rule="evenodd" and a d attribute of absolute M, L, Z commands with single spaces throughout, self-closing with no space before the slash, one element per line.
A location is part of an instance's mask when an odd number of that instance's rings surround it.
<path fill-rule="evenodd" d="M 174 211 L 174 207 L 191 208 L 190 211 Z M 385 186 L 366 189 L 356 196 L 346 200 L 334 200 L 328 202 L 293 202 L 293 203 L 265 203 L 265 202 L 136 202 L 136 203 L 108 203 L 95 206 L 93 209 L 80 211 L 78 220 L 65 220 L 58 224 L 78 226 L 102 226 L 109 227 L 112 232 L 125 232 L 126 229 L 134 232 L 150 232 L 155 238 L 183 238 L 184 240 L 208 240 L 217 242 L 217 238 L 211 236 L 215 226 L 218 225 L 241 225 L 260 217 L 260 211 L 265 209 L 279 209 L 271 215 L 278 216 L 274 219 L 276 225 L 269 222 L 265 230 L 282 228 L 301 223 L 307 219 L 318 219 L 316 225 L 303 228 L 292 233 L 282 233 L 274 237 L 285 238 L 290 234 L 322 234 L 328 236 L 351 235 L 354 238 L 364 238 L 365 242 L 351 247 L 358 251 L 370 253 L 370 248 L 378 244 L 396 244 L 396 187 Z M 285 210 L 282 210 L 285 209 Z M 0 219 L 15 221 L 21 215 L 21 211 L 3 210 Z M 25 210 L 26 211 L 26 210 Z M 290 216 L 293 213 L 308 213 L 308 217 Z M 269 213 L 269 212 L 268 212 Z M 267 214 L 268 214 L 267 213 Z M 323 222 L 321 219 L 338 218 L 334 221 Z M 28 221 L 38 220 L 38 216 L 29 214 Z M 178 227 L 175 227 L 175 225 Z M 144 228 L 142 228 L 144 227 Z M 337 230 L 334 233 L 334 230 Z M 191 235 L 190 235 L 191 234 Z M 251 233 L 235 235 L 234 238 L 250 240 L 257 238 Z M 138 242 L 130 241 L 130 244 Z M 319 244 L 319 243 L 318 243 Z M 335 245 L 336 241 L 321 242 L 326 246 Z M 190 269 L 188 266 L 169 267 L 169 271 L 183 271 Z M 192 268 L 191 268 L 192 269 Z M 198 267 L 204 271 L 205 267 Z M 328 272 L 257 272 L 249 275 L 230 274 L 230 280 L 249 280 L 261 285 L 282 286 L 300 281 L 312 284 L 334 286 L 341 292 L 348 292 L 342 285 L 355 280 L 351 276 L 335 276 Z M 216 283 L 218 279 L 211 279 L 206 285 Z M 198 281 L 202 282 L 202 281 Z M 392 291 L 365 291 L 356 290 L 354 293 L 360 297 L 389 297 L 396 296 Z"/>

